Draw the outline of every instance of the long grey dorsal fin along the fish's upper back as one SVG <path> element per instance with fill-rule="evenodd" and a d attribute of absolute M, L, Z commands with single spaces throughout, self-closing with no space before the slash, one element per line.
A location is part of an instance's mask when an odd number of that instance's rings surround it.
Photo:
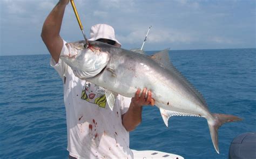
<path fill-rule="evenodd" d="M 176 75 L 178 75 L 183 82 L 185 82 L 189 88 L 196 93 L 197 97 L 201 100 L 201 102 L 207 107 L 207 103 L 203 97 L 203 95 L 196 89 L 194 88 L 194 86 L 187 80 L 186 77 L 184 77 L 180 71 L 173 66 L 170 57 L 169 57 L 169 49 L 165 49 L 162 50 L 161 52 L 158 52 L 154 55 L 151 56 L 151 59 L 153 59 L 154 61 L 156 61 L 158 64 L 160 64 L 161 67 L 168 69 L 170 71 L 173 71 L 174 73 L 176 73 Z"/>

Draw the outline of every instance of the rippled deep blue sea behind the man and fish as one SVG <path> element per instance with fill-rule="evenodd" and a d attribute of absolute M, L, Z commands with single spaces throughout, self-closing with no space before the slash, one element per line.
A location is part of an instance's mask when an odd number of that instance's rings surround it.
<path fill-rule="evenodd" d="M 220 127 L 217 154 L 204 118 L 172 117 L 166 127 L 156 106 L 144 106 L 131 149 L 227 158 L 235 136 L 256 131 L 256 49 L 170 50 L 170 57 L 211 112 L 244 120 Z M 68 157 L 63 84 L 49 61 L 48 54 L 0 56 L 0 158 Z"/>

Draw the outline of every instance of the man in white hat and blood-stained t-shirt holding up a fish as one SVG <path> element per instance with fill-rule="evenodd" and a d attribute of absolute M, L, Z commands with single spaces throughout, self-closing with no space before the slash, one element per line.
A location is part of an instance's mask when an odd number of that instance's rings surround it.
<path fill-rule="evenodd" d="M 51 66 L 64 83 L 64 103 L 68 129 L 70 158 L 133 158 L 129 148 L 129 132 L 142 120 L 142 106 L 154 105 L 151 91 L 143 89 L 134 98 L 118 95 L 113 111 L 106 103 L 105 91 L 83 81 L 59 59 L 69 54 L 60 37 L 60 26 L 69 0 L 60 0 L 46 18 L 41 37 L 51 54 Z M 114 30 L 106 24 L 91 27 L 89 40 L 98 40 L 120 47 Z M 146 92 L 148 96 L 146 97 Z"/>

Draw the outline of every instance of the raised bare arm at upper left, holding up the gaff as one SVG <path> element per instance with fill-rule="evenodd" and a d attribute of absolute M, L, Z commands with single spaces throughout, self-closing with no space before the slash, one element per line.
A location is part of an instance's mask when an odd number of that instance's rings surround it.
<path fill-rule="evenodd" d="M 60 0 L 45 19 L 42 28 L 41 37 L 56 63 L 59 61 L 59 55 L 63 47 L 63 40 L 59 32 L 64 11 L 68 3 L 69 0 Z"/>

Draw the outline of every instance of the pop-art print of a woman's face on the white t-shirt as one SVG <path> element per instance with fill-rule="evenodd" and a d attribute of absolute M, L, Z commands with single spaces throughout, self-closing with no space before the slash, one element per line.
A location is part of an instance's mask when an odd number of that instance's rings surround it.
<path fill-rule="evenodd" d="M 87 81 L 84 84 L 81 99 L 97 104 L 99 107 L 105 108 L 106 106 L 105 90 L 102 87 Z"/>

